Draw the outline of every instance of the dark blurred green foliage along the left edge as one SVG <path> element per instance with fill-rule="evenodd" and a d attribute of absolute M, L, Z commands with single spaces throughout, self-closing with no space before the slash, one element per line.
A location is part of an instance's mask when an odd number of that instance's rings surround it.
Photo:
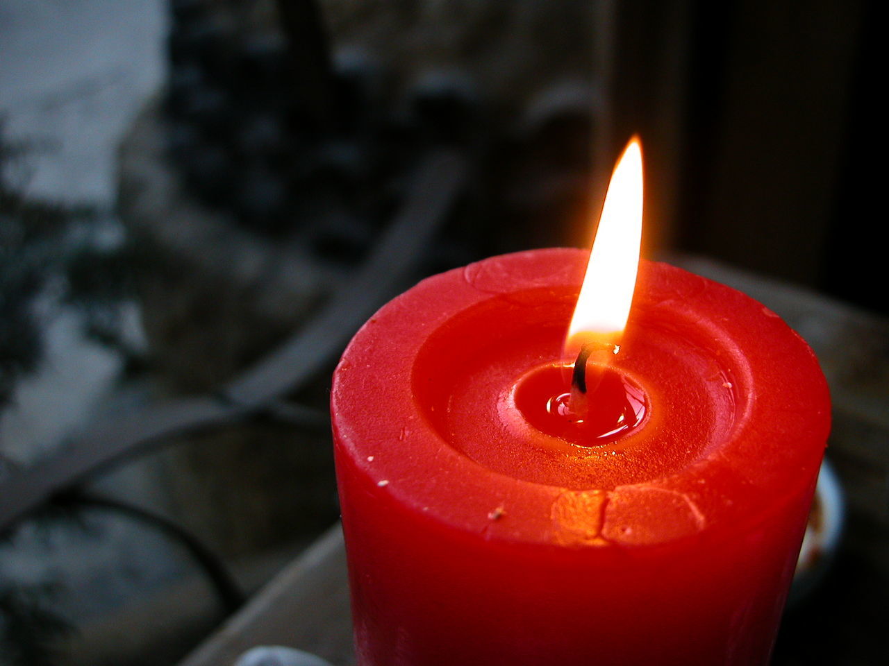
<path fill-rule="evenodd" d="M 127 353 L 120 304 L 132 293 L 139 254 L 116 225 L 88 206 L 32 201 L 7 182 L 9 167 L 27 150 L 3 136 L 0 118 L 0 410 L 17 380 L 38 366 L 44 352 L 45 317 L 36 301 L 49 292 L 52 305 L 83 313 L 84 335 Z M 14 472 L 0 452 L 0 479 Z M 52 504 L 36 525 L 77 525 L 76 511 Z M 12 533 L 0 546 L 12 546 Z M 56 646 L 73 630 L 52 609 L 52 584 L 0 580 L 0 666 L 55 666 Z"/>

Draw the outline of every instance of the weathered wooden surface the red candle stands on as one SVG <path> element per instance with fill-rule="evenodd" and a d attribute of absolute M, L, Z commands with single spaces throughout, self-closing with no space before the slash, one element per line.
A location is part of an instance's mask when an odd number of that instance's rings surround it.
<path fill-rule="evenodd" d="M 889 663 L 889 320 L 697 258 L 673 263 L 741 289 L 788 321 L 821 361 L 834 402 L 828 457 L 845 533 L 817 590 L 785 614 L 773 666 Z M 180 666 L 230 666 L 257 645 L 354 663 L 340 526 L 322 535 Z"/>

